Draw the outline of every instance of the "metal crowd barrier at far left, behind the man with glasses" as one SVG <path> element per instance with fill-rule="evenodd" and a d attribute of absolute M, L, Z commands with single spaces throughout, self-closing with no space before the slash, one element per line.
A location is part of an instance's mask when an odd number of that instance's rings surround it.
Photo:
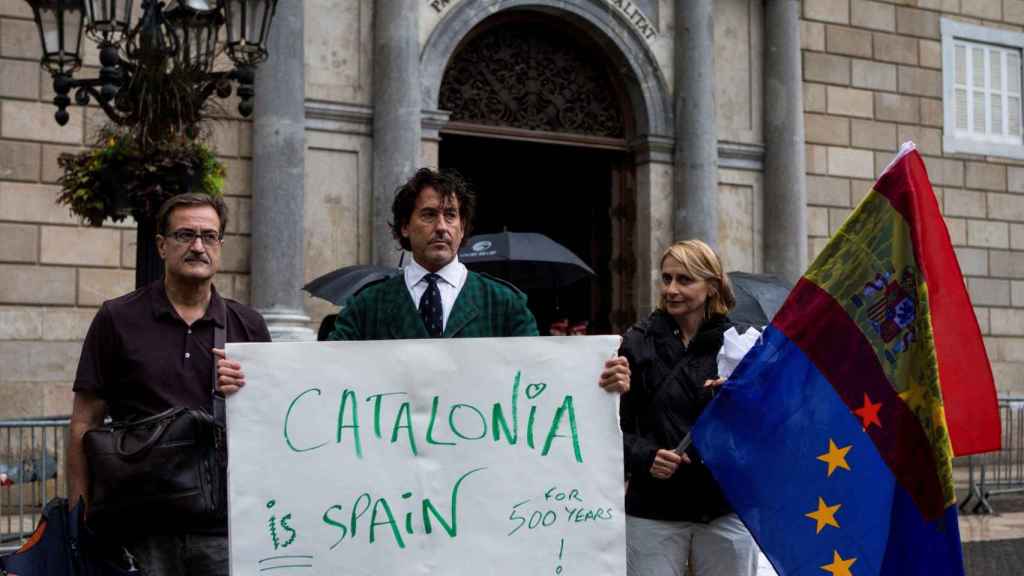
<path fill-rule="evenodd" d="M 69 418 L 0 420 L 0 550 L 16 548 L 51 498 L 66 496 Z"/>

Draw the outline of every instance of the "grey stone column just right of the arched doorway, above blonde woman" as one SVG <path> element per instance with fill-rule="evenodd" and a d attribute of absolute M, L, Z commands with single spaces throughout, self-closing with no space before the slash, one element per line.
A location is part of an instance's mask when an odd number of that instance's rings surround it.
<path fill-rule="evenodd" d="M 676 0 L 675 239 L 718 246 L 713 0 Z"/>

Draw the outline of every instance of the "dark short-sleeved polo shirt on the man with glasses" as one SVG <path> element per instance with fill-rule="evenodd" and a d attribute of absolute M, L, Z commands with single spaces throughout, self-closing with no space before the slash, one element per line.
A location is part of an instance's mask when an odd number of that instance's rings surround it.
<path fill-rule="evenodd" d="M 228 342 L 270 341 L 259 313 L 216 289 L 206 315 L 190 327 L 167 299 L 163 280 L 103 302 L 82 345 L 75 392 L 103 399 L 115 420 L 209 407 L 213 328 L 225 308 Z"/>

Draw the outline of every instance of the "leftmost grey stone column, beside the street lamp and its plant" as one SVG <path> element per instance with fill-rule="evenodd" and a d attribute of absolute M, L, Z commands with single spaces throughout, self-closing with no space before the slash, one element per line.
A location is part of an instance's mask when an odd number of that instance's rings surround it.
<path fill-rule="evenodd" d="M 313 340 L 304 277 L 305 73 L 303 2 L 281 2 L 256 71 L 253 117 L 252 303 L 274 340 Z"/>

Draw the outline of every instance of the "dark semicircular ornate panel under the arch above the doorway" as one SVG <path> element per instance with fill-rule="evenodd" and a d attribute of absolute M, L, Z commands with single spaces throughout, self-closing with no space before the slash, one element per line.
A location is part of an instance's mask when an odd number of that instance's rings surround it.
<path fill-rule="evenodd" d="M 625 141 L 629 97 L 588 35 L 547 14 L 506 10 L 473 29 L 444 70 L 437 106 L 453 125 Z"/>

